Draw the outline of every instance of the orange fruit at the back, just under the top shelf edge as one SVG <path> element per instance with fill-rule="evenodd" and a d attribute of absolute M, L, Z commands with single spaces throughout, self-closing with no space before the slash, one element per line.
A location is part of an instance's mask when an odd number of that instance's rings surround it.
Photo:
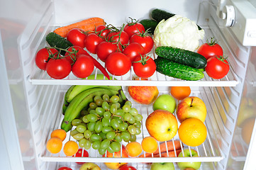
<path fill-rule="evenodd" d="M 189 86 L 172 86 L 170 92 L 174 98 L 182 101 L 191 94 L 191 89 Z"/>

